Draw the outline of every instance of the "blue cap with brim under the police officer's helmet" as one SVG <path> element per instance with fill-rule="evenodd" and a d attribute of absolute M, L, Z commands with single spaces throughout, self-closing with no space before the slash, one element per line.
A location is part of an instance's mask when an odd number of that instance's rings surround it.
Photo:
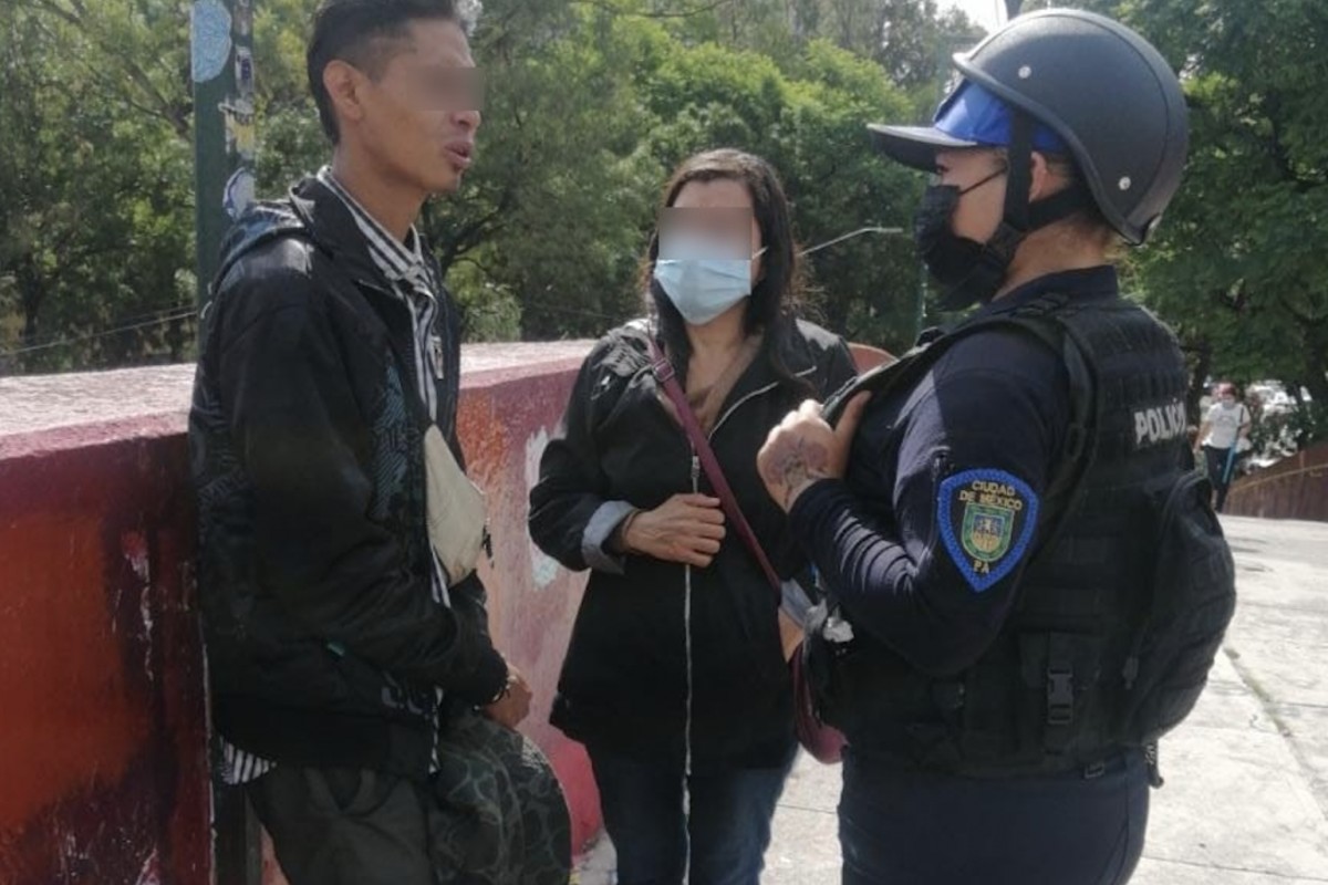
<path fill-rule="evenodd" d="M 932 171 L 938 151 L 1008 146 L 1011 110 L 993 93 L 965 80 L 942 102 L 931 126 L 872 123 L 867 129 L 882 153 L 906 166 Z M 1033 127 L 1033 150 L 1069 153 L 1065 141 L 1041 123 Z"/>

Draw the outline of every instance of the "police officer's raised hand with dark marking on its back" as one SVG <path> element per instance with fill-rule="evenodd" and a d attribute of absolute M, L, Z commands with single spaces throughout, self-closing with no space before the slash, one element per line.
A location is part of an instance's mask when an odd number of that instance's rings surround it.
<path fill-rule="evenodd" d="M 821 417 L 821 403 L 807 399 L 770 431 L 756 466 L 770 498 L 785 511 L 818 479 L 843 476 L 849 446 L 870 398 L 859 393 L 850 399 L 835 427 Z"/>

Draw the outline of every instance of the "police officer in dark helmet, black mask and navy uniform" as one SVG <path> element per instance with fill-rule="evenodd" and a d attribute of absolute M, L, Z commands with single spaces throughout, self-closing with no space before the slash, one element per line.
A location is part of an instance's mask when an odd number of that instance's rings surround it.
<path fill-rule="evenodd" d="M 1185 102 L 1153 46 L 1085 12 L 955 64 L 931 126 L 871 130 L 935 174 L 918 245 L 946 306 L 981 306 L 906 383 L 835 427 L 803 403 L 758 458 L 834 601 L 806 663 L 849 740 L 843 881 L 1125 882 L 1153 771 L 1120 713 L 1154 567 L 1139 513 L 1179 475 L 1186 374 L 1110 259 L 1177 190 Z M 1004 322 L 1038 318 L 1064 333 Z"/>

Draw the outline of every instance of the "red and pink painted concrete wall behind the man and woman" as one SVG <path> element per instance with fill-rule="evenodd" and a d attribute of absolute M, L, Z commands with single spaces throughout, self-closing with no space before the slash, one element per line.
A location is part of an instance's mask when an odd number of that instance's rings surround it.
<path fill-rule="evenodd" d="M 583 579 L 526 495 L 587 342 L 467 348 L 461 437 L 489 494 L 495 641 L 529 677 L 579 844 L 584 751 L 547 724 Z M 210 787 L 189 366 L 0 378 L 0 884 L 206 885 Z M 276 874 L 270 877 L 276 881 Z"/>

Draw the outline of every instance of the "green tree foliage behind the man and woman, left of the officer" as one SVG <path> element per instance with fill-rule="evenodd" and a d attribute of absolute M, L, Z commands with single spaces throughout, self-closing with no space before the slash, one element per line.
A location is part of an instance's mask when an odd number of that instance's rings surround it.
<path fill-rule="evenodd" d="M 256 0 L 259 191 L 327 158 L 304 73 L 316 0 Z M 181 360 L 193 340 L 186 0 L 0 7 L 0 372 Z M 594 336 L 643 309 L 660 188 L 688 154 L 770 159 L 799 240 L 910 226 L 920 182 L 863 125 L 924 115 L 971 25 L 935 0 L 489 0 L 479 157 L 424 220 L 471 338 Z M 907 236 L 815 252 L 811 309 L 900 348 Z"/>

